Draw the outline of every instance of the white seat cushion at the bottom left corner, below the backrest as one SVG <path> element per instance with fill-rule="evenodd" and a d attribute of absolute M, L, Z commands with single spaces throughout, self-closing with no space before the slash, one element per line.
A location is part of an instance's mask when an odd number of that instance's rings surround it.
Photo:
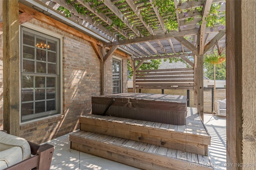
<path fill-rule="evenodd" d="M 8 168 L 21 161 L 22 150 L 20 147 L 12 147 L 0 152 L 0 170 Z"/>

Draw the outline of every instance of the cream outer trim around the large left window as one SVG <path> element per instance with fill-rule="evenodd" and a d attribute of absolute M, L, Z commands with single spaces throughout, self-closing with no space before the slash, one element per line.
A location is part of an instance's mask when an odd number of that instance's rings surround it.
<path fill-rule="evenodd" d="M 44 34 L 44 35 L 48 35 L 49 37 L 54 37 L 56 39 L 59 39 L 59 45 L 58 45 L 58 57 L 57 57 L 57 61 L 56 61 L 56 64 L 58 64 L 57 68 L 57 72 L 58 72 L 58 86 L 56 86 L 56 90 L 58 90 L 58 96 L 56 96 L 56 110 L 57 110 L 57 113 L 54 113 L 54 114 L 44 114 L 43 117 L 38 117 L 40 116 L 40 114 L 38 114 L 38 116 L 36 117 L 32 117 L 30 120 L 26 121 L 22 121 L 22 115 L 21 115 L 21 105 L 22 105 L 22 93 L 21 93 L 21 90 L 22 90 L 22 84 L 21 84 L 21 78 L 22 78 L 22 45 L 23 45 L 23 42 L 22 42 L 22 29 L 30 29 L 31 31 L 35 31 L 36 32 L 36 35 L 40 35 L 40 34 Z M 25 123 L 30 123 L 30 122 L 33 122 L 33 121 L 39 121 L 39 120 L 42 120 L 42 119 L 46 119 L 46 118 L 50 118 L 50 117 L 55 117 L 55 116 L 58 116 L 58 115 L 62 115 L 62 112 L 63 112 L 63 101 L 62 101 L 62 41 L 63 41 L 63 36 L 62 35 L 59 35 L 57 33 L 54 33 L 54 32 L 51 32 L 51 31 L 48 31 L 47 29 L 44 29 L 42 27 L 38 27 L 36 25 L 33 25 L 32 23 L 23 23 L 22 25 L 20 25 L 20 124 L 25 124 Z"/>

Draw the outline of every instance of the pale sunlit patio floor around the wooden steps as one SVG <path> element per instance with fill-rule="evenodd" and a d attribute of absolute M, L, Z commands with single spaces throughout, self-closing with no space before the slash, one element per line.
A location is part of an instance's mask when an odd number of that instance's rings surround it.
<path fill-rule="evenodd" d="M 208 154 L 216 170 L 226 170 L 226 117 L 204 115 L 204 123 L 211 135 Z M 54 145 L 51 170 L 138 170 L 125 164 L 70 149 L 69 134 L 52 139 Z"/>

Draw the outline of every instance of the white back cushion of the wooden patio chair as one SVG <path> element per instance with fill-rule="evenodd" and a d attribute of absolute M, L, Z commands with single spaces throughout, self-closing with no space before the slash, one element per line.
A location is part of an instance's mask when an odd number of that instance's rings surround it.
<path fill-rule="evenodd" d="M 12 147 L 20 147 L 22 150 L 22 160 L 31 156 L 30 145 L 26 139 L 0 131 L 0 151 L 10 149 Z"/>

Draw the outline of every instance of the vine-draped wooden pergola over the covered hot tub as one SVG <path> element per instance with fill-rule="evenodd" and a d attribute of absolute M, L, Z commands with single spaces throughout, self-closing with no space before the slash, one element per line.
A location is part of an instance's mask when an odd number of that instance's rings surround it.
<path fill-rule="evenodd" d="M 194 106 L 203 118 L 203 55 L 214 47 L 216 42 L 219 45 L 225 44 L 225 26 L 220 22 L 208 26 L 207 18 L 214 15 L 218 20 L 225 18 L 225 2 L 174 0 L 161 6 L 157 2 L 155 0 L 21 1 L 39 11 L 38 13 L 46 14 L 93 37 L 95 40 L 90 40 L 91 45 L 102 63 L 105 63 L 116 50 L 126 53 L 134 70 L 134 92 L 136 86 L 144 85 L 136 84 L 136 70 L 144 61 L 174 57 L 183 59 L 192 68 L 192 79 L 172 79 L 168 80 L 172 83 L 167 85 L 159 85 L 159 82 L 166 80 L 151 81 L 150 86 L 148 84 L 144 88 L 170 89 L 173 88 L 172 85 L 179 84 L 179 89 L 194 90 Z M 164 8 L 166 5 L 168 5 L 167 9 Z M 26 14 L 27 10 L 22 6 L 20 4 L 20 12 Z M 217 13 L 213 13 L 213 10 Z M 40 20 L 39 16 L 38 20 Z M 192 59 L 189 59 L 188 57 L 191 56 Z M 140 63 L 136 65 L 135 61 Z M 191 69 L 182 71 L 191 71 Z M 156 74 L 162 75 L 162 72 Z M 176 74 L 172 73 L 170 78 L 180 76 Z M 185 76 L 185 79 L 186 77 L 188 76 Z M 155 82 L 158 83 L 157 87 Z M 104 84 L 102 78 L 102 94 L 104 94 Z"/>

